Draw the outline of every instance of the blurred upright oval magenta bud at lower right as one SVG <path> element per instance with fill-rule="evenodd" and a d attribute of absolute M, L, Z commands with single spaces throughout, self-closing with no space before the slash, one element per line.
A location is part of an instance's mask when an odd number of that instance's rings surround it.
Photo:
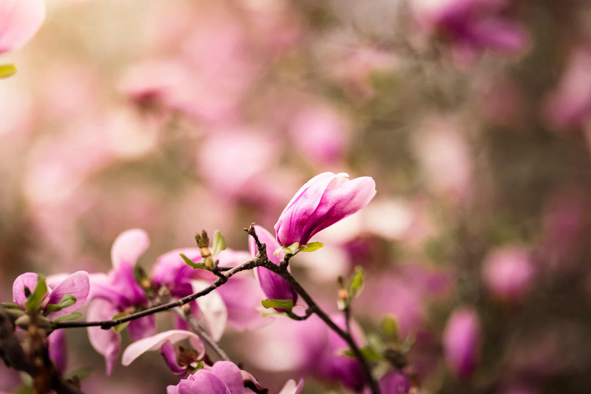
<path fill-rule="evenodd" d="M 476 311 L 469 308 L 454 311 L 443 333 L 443 348 L 447 364 L 457 376 L 467 377 L 475 371 L 479 341 Z"/>

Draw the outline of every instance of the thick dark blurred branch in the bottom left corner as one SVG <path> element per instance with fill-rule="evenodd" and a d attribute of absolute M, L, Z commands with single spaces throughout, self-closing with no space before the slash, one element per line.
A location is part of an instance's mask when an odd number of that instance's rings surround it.
<path fill-rule="evenodd" d="M 34 393 L 45 394 L 54 390 L 57 394 L 82 394 L 70 385 L 51 362 L 47 343 L 40 329 L 30 326 L 30 348 L 27 353 L 14 336 L 12 320 L 0 306 L 0 358 L 7 367 L 26 372 L 33 377 Z"/>

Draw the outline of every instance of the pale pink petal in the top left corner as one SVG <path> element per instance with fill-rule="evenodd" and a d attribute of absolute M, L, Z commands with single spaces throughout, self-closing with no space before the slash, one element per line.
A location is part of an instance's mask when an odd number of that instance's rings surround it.
<path fill-rule="evenodd" d="M 45 0 L 0 2 L 0 54 L 22 47 L 45 19 Z"/>

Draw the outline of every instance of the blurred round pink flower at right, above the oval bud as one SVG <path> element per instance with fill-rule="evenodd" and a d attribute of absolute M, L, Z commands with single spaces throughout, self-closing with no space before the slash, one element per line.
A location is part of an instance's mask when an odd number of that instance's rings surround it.
<path fill-rule="evenodd" d="M 504 300 L 519 301 L 527 295 L 534 279 L 531 252 L 520 247 L 493 250 L 482 267 L 485 285 L 492 294 Z"/>

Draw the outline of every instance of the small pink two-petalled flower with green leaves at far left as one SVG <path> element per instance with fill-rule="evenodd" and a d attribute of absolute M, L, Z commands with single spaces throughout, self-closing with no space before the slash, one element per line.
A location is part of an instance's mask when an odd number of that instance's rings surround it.
<path fill-rule="evenodd" d="M 46 281 L 47 282 L 47 281 Z M 12 298 L 14 302 L 21 308 L 24 308 L 27 296 L 25 295 L 25 287 L 31 292 L 37 285 L 37 274 L 33 272 L 23 273 L 15 279 L 12 285 Z M 63 281 L 60 281 L 53 289 L 47 286 L 47 293 L 41 301 L 41 311 L 48 315 L 48 317 L 58 317 L 76 311 L 85 304 L 89 294 L 90 284 L 89 275 L 86 271 L 78 271 L 68 275 Z M 48 312 L 47 305 L 59 304 L 61 299 L 66 294 L 71 294 L 76 297 L 76 302 L 69 307 L 63 308 L 60 311 Z"/>

